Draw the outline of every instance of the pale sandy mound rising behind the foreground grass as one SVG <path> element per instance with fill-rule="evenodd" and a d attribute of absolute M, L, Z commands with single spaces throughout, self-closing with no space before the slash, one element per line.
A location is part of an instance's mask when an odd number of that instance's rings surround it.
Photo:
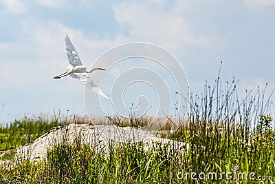
<path fill-rule="evenodd" d="M 80 143 L 96 146 L 97 150 L 102 153 L 107 153 L 110 139 L 113 143 L 128 142 L 142 142 L 144 149 L 149 150 L 154 143 L 161 143 L 162 145 L 170 144 L 175 149 L 188 150 L 189 146 L 186 143 L 171 141 L 170 139 L 161 139 L 145 130 L 135 127 L 118 127 L 116 125 L 89 125 L 89 124 L 70 124 L 65 127 L 53 127 L 50 132 L 43 134 L 41 137 L 29 143 L 17 147 L 16 159 L 43 159 L 47 154 L 47 149 L 67 141 L 73 143 L 79 141 Z M 4 163 L 2 161 L 2 163 Z M 1 161 L 0 161 L 1 164 Z"/>

